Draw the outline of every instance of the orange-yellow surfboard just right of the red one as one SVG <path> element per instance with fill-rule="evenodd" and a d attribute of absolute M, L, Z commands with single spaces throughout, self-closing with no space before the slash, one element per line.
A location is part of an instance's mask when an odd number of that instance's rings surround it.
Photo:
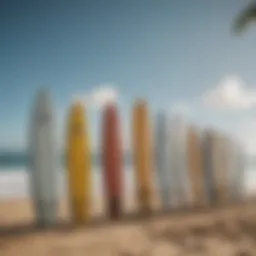
<path fill-rule="evenodd" d="M 133 160 L 135 169 L 136 194 L 141 212 L 152 209 L 152 134 L 148 104 L 138 99 L 132 116 Z"/>

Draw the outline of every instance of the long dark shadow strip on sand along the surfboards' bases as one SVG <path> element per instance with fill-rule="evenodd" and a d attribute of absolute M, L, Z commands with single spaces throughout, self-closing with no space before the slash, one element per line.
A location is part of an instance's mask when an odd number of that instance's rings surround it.
<path fill-rule="evenodd" d="M 5 226 L 0 227 L 0 237 L 7 237 L 7 236 L 19 236 L 19 235 L 26 235 L 26 234 L 33 234 L 38 232 L 45 232 L 45 231 L 54 231 L 54 232 L 71 232 L 74 230 L 79 230 L 83 228 L 102 228 L 107 226 L 119 225 L 119 224 L 135 224 L 135 223 L 142 223 L 148 222 L 150 220 L 156 220 L 159 217 L 182 217 L 182 216 L 200 216 L 200 214 L 215 214 L 225 210 L 232 210 L 241 208 L 241 206 L 247 205 L 255 205 L 256 200 L 249 200 L 247 202 L 239 202 L 239 203 L 229 203 L 225 205 L 211 205 L 211 206 L 204 206 L 204 207 L 189 207 L 189 208 L 179 208 L 179 209 L 171 209 L 171 210 L 161 210 L 161 211 L 151 211 L 145 213 L 132 213 L 132 214 L 125 214 L 119 219 L 109 219 L 107 216 L 105 217 L 98 217 L 92 218 L 90 221 L 75 225 L 72 222 L 68 221 L 58 221 L 58 223 L 54 226 L 39 226 L 35 223 L 25 223 L 21 225 L 15 226 Z"/>

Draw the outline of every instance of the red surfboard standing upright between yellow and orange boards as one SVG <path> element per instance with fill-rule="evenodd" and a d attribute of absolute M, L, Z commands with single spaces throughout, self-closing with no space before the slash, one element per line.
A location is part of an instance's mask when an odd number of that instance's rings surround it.
<path fill-rule="evenodd" d="M 108 103 L 103 110 L 102 160 L 107 213 L 111 219 L 122 214 L 123 151 L 117 106 Z"/>

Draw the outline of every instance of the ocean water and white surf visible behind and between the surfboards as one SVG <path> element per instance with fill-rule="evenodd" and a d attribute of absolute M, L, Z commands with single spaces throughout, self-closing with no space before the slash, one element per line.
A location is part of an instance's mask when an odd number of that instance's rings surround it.
<path fill-rule="evenodd" d="M 134 195 L 134 170 L 131 155 L 129 154 L 124 159 L 123 170 L 125 194 Z M 67 192 L 66 167 L 63 156 L 60 157 L 57 172 L 59 176 L 57 188 L 59 197 L 62 197 Z M 103 177 L 99 155 L 93 157 L 92 172 L 93 194 L 95 196 L 102 195 Z M 0 153 L 0 200 L 30 197 L 29 177 L 28 157 L 25 153 Z M 153 178 L 156 181 L 155 173 Z M 157 186 L 157 182 L 155 184 Z M 247 194 L 256 194 L 256 162 L 253 160 L 247 161 L 244 172 L 244 185 Z"/>

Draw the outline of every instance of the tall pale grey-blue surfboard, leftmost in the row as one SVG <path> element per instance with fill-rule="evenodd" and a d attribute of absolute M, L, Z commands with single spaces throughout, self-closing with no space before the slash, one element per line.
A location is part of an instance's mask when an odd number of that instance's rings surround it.
<path fill-rule="evenodd" d="M 35 100 L 29 129 L 30 188 L 39 226 L 57 221 L 55 116 L 50 92 L 41 90 Z"/>

